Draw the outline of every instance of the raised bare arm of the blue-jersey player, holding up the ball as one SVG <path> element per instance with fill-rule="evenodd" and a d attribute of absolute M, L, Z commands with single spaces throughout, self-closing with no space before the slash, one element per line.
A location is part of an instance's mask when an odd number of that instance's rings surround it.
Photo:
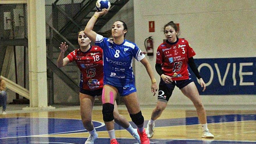
<path fill-rule="evenodd" d="M 84 29 L 84 33 L 86 34 L 86 36 L 88 38 L 90 38 L 90 40 L 92 40 L 93 42 L 96 41 L 96 35 L 97 35 L 97 33 L 95 31 L 93 31 L 93 26 L 96 23 L 98 17 L 100 17 L 106 13 L 108 13 L 108 10 L 105 8 L 101 12 L 95 12 L 95 14 L 88 21 L 88 23 Z"/>

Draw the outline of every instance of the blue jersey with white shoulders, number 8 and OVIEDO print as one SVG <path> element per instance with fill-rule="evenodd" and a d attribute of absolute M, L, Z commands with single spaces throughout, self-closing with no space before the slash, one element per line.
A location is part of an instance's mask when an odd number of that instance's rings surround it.
<path fill-rule="evenodd" d="M 109 38 L 97 34 L 95 44 L 103 49 L 104 84 L 115 87 L 129 87 L 134 84 L 132 58 L 141 61 L 145 55 L 138 46 L 128 40 L 117 45 Z"/>

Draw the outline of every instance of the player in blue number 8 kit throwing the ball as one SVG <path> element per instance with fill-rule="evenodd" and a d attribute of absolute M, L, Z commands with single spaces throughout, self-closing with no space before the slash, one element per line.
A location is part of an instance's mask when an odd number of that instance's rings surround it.
<path fill-rule="evenodd" d="M 108 11 L 106 9 L 101 12 L 95 12 L 93 17 L 87 23 L 84 33 L 93 40 L 96 45 L 103 49 L 104 86 L 102 91 L 102 114 L 111 139 L 110 143 L 118 144 L 115 139 L 113 104 L 117 93 L 119 93 L 125 102 L 131 120 L 138 127 L 137 131 L 140 135 L 141 144 L 149 144 L 150 141 L 147 138 L 145 129 L 143 128 L 144 117 L 141 113 L 136 93 L 135 79 L 132 71 L 132 58 L 136 58 L 137 61 L 140 61 L 145 66 L 152 81 L 151 91 L 154 95 L 157 91 L 156 79 L 154 77 L 152 67 L 145 58 L 143 52 L 135 43 L 124 39 L 125 34 L 127 33 L 127 26 L 125 22 L 120 20 L 114 22 L 111 29 L 113 40 L 104 38 L 102 35 L 93 31 L 93 26 L 97 21 L 97 18 L 107 12 Z"/>

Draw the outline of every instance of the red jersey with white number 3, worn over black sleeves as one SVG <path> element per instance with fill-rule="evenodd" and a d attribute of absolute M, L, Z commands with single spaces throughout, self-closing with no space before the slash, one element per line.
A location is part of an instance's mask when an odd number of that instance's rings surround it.
<path fill-rule="evenodd" d="M 163 73 L 174 81 L 189 79 L 188 59 L 194 55 L 188 41 L 177 39 L 176 42 L 159 45 L 156 63 L 161 64 Z"/>

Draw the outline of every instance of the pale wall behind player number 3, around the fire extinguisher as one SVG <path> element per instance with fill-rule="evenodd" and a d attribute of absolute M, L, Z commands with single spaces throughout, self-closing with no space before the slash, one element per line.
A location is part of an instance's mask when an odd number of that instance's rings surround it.
<path fill-rule="evenodd" d="M 144 40 L 154 39 L 154 56 L 147 56 L 153 69 L 157 47 L 165 38 L 163 26 L 179 23 L 180 38 L 186 38 L 196 52 L 194 58 L 233 58 L 256 56 L 256 3 L 254 0 L 134 0 L 135 42 L 145 50 Z M 149 33 L 148 22 L 155 21 L 155 32 Z M 141 104 L 155 104 L 150 78 L 143 65 L 135 63 L 136 88 Z M 154 69 L 157 83 L 159 75 Z M 256 83 L 256 82 L 255 82 Z M 255 95 L 203 95 L 205 105 L 256 104 Z M 192 102 L 175 88 L 169 104 Z"/>

